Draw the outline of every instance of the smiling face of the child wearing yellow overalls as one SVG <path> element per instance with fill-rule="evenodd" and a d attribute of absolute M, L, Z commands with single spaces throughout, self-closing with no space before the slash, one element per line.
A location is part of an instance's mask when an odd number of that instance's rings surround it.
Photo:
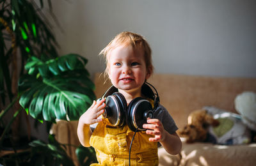
<path fill-rule="evenodd" d="M 109 79 L 113 86 L 125 91 L 140 91 L 145 79 L 150 77 L 147 72 L 143 49 L 140 47 L 119 46 L 109 54 Z"/>

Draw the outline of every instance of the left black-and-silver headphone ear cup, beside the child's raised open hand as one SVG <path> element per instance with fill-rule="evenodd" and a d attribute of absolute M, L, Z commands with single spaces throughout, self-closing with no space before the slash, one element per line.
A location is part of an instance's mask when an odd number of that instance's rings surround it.
<path fill-rule="evenodd" d="M 113 126 L 124 126 L 127 103 L 121 93 L 113 93 L 106 98 L 104 117 L 108 118 Z"/>

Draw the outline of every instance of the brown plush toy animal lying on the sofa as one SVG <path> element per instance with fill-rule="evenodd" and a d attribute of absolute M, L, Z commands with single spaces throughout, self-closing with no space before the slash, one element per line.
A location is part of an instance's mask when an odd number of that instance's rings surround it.
<path fill-rule="evenodd" d="M 189 114 L 188 124 L 179 130 L 179 135 L 186 138 L 187 143 L 203 142 L 209 125 L 218 126 L 219 121 L 207 114 L 206 110 L 195 110 Z"/>

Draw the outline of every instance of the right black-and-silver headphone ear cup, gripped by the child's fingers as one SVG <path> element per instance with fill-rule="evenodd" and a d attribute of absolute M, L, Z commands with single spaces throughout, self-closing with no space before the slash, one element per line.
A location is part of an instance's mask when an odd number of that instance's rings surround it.
<path fill-rule="evenodd" d="M 126 115 L 126 123 L 133 132 L 137 128 L 138 130 L 146 130 L 142 125 L 147 123 L 147 117 L 154 117 L 151 103 L 141 97 L 134 98 L 129 103 Z"/>

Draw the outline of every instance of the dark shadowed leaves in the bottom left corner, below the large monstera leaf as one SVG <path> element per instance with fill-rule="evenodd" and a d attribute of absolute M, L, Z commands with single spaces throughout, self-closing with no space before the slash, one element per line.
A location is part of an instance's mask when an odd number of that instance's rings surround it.
<path fill-rule="evenodd" d="M 67 156 L 66 146 L 59 144 L 54 135 L 49 135 L 49 142 L 34 140 L 29 143 L 31 150 L 13 153 L 3 156 L 0 163 L 3 165 L 63 165 L 74 166 L 72 160 Z"/>

